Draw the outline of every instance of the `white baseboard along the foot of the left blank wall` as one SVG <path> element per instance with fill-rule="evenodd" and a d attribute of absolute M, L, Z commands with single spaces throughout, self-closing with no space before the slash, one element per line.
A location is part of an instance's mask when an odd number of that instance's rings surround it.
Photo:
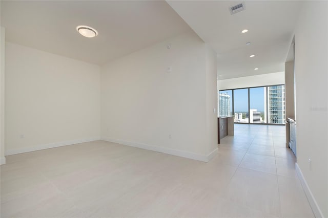
<path fill-rule="evenodd" d="M 43 149 L 48 149 L 48 148 L 61 147 L 61 146 L 84 143 L 84 142 L 91 142 L 91 141 L 96 141 L 96 140 L 100 140 L 100 137 L 94 137 L 94 138 L 89 138 L 89 139 L 78 139 L 78 140 L 71 140 L 71 141 L 65 141 L 65 142 L 56 142 L 56 143 L 38 145 L 35 147 L 12 149 L 12 150 L 5 151 L 5 155 L 6 156 L 7 155 L 16 155 L 16 154 L 20 154 L 20 153 L 35 151 L 35 150 L 43 150 Z"/>

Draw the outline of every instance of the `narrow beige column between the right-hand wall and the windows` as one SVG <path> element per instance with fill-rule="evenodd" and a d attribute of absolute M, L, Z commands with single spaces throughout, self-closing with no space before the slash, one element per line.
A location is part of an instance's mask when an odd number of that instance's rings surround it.
<path fill-rule="evenodd" d="M 294 60 L 285 63 L 285 114 L 295 120 L 294 106 Z M 286 147 L 290 140 L 290 126 L 286 125 Z"/>

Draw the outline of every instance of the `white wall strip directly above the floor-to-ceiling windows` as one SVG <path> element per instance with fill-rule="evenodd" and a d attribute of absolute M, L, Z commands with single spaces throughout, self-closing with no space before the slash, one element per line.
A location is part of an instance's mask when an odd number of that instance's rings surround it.
<path fill-rule="evenodd" d="M 218 90 L 239 89 L 247 87 L 277 85 L 285 83 L 284 72 L 245 76 L 217 81 Z"/>

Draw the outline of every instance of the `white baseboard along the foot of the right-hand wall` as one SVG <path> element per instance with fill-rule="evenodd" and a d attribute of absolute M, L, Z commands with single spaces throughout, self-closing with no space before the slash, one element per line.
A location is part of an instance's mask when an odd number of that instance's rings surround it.
<path fill-rule="evenodd" d="M 315 217 L 324 217 L 323 213 L 321 212 L 319 205 L 317 204 L 317 201 L 315 200 L 308 183 L 306 183 L 303 173 L 297 163 L 295 164 L 295 170 L 296 170 L 296 174 L 297 174 L 299 180 L 301 181 L 306 198 L 308 198 L 308 201 L 310 203 L 310 206 L 312 208 L 312 211 L 313 211 Z"/>

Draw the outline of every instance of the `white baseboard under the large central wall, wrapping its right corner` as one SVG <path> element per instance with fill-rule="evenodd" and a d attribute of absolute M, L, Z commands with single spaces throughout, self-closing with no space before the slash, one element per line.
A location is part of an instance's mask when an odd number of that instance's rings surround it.
<path fill-rule="evenodd" d="M 101 137 L 101 140 L 108 141 L 108 142 L 114 142 L 117 144 L 122 144 L 122 145 L 128 145 L 131 147 L 137 147 L 137 148 L 142 148 L 146 150 L 153 150 L 169 155 L 174 155 L 174 156 L 179 156 L 183 158 L 189 158 L 197 161 L 203 161 L 203 162 L 209 162 L 216 154 L 217 148 L 213 150 L 209 155 L 200 155 L 200 154 L 195 154 L 193 152 L 188 152 L 184 150 L 177 150 L 173 148 L 168 148 L 168 147 L 158 147 L 154 145 L 148 145 L 148 144 L 143 144 L 143 143 L 137 143 L 137 142 L 130 142 L 130 141 L 124 141 L 124 140 L 119 140 L 119 139 L 110 139 L 107 137 Z"/>

